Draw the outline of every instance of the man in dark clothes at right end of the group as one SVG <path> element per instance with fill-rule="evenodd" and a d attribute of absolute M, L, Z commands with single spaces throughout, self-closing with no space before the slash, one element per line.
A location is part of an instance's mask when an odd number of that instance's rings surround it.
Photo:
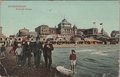
<path fill-rule="evenodd" d="M 53 45 L 50 41 L 47 41 L 43 48 L 43 56 L 45 60 L 45 66 L 49 69 L 51 68 L 52 64 L 52 51 L 54 50 Z"/>

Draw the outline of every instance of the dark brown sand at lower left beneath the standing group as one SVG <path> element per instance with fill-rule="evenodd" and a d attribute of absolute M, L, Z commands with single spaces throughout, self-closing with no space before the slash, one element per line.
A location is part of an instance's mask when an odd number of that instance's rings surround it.
<path fill-rule="evenodd" d="M 7 48 L 7 52 L 10 48 Z M 1 76 L 11 76 L 11 77 L 55 77 L 56 69 L 52 67 L 51 70 L 45 68 L 44 64 L 41 64 L 39 68 L 34 68 L 32 63 L 31 67 L 26 66 L 17 66 L 15 62 L 15 55 L 8 54 L 7 58 L 1 59 L 1 63 L 4 68 L 7 70 L 7 74 L 4 69 L 0 68 Z"/>

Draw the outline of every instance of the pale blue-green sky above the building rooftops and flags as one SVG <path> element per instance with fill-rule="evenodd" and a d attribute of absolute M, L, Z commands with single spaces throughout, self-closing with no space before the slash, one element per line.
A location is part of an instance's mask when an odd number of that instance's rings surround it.
<path fill-rule="evenodd" d="M 19 29 L 46 24 L 57 26 L 64 18 L 77 28 L 103 28 L 108 34 L 119 30 L 118 1 L 3 1 L 0 19 L 3 34 L 16 34 Z M 96 22 L 96 24 L 93 24 Z"/>

